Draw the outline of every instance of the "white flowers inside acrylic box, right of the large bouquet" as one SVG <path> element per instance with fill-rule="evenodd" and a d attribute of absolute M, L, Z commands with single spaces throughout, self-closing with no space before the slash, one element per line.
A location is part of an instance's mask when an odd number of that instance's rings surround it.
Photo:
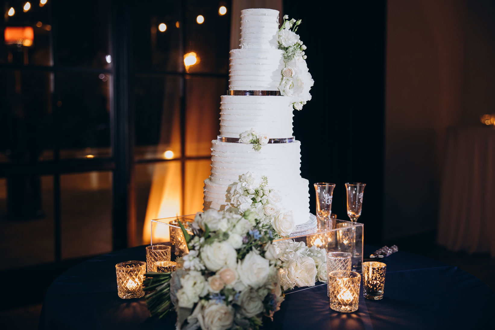
<path fill-rule="evenodd" d="M 294 286 L 313 286 L 316 281 L 327 282 L 326 250 L 292 239 L 278 241 L 277 250 L 282 269 L 280 283 L 284 290 Z"/>

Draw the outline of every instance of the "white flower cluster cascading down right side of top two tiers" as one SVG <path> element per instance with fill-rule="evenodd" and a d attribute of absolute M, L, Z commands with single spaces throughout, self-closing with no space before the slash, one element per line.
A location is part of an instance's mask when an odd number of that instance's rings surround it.
<path fill-rule="evenodd" d="M 284 23 L 277 34 L 279 49 L 284 50 L 285 67 L 282 70 L 282 81 L 279 91 L 284 96 L 292 97 L 292 104 L 296 110 L 311 99 L 309 90 L 314 84 L 306 65 L 306 46 L 296 34 L 301 20 L 284 16 Z M 292 30 L 291 30 L 292 28 Z"/>

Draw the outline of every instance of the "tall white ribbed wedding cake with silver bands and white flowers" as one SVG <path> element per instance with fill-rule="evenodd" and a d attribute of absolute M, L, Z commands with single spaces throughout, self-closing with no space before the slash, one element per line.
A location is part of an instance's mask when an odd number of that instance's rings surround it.
<path fill-rule="evenodd" d="M 241 48 L 230 51 L 229 91 L 221 96 L 220 135 L 212 141 L 203 203 L 204 210 L 234 207 L 232 189 L 243 175 L 263 176 L 270 191 L 281 197 L 275 198 L 277 207 L 292 214 L 293 231 L 310 217 L 308 181 L 300 176 L 300 142 L 293 137 L 293 109 L 310 99 L 312 86 L 305 46 L 290 30 L 300 21 L 295 23 L 285 20 L 279 30 L 277 10 L 241 11 Z M 288 61 L 284 55 L 294 49 L 296 55 Z M 248 196 L 256 203 L 257 195 Z M 273 218 L 268 209 L 265 216 Z"/>

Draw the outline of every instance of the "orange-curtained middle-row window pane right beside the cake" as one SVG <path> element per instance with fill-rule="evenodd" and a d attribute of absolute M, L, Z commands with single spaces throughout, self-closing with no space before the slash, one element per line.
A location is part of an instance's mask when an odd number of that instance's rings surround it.
<path fill-rule="evenodd" d="M 220 131 L 220 95 L 227 78 L 189 77 L 186 80 L 186 155 L 208 156 L 211 140 Z"/>

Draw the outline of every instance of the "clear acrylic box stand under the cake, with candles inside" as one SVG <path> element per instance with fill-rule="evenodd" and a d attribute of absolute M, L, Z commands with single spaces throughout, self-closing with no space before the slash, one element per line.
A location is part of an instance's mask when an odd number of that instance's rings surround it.
<path fill-rule="evenodd" d="M 172 254 L 181 256 L 189 250 L 178 225 L 179 220 L 186 229 L 194 221 L 196 214 L 172 218 L 151 220 L 151 244 L 170 240 Z M 193 235 L 193 232 L 190 231 Z M 363 262 L 363 224 L 339 219 L 317 220 L 316 229 L 306 231 L 304 235 L 289 236 L 278 240 L 294 239 L 305 242 L 307 246 L 316 245 L 327 252 L 341 251 L 352 254 L 352 270 L 361 271 Z"/>

